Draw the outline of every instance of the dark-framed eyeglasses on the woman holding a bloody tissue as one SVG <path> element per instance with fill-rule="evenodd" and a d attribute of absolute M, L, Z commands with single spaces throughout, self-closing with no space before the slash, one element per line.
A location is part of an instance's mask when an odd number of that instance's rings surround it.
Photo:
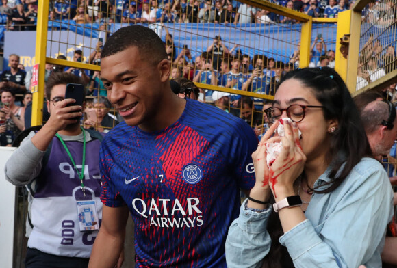
<path fill-rule="evenodd" d="M 324 108 L 324 106 L 293 104 L 285 109 L 273 106 L 264 110 L 264 112 L 266 113 L 266 116 L 268 116 L 268 120 L 274 123 L 276 120 L 281 118 L 283 111 L 287 111 L 287 116 L 291 118 L 292 122 L 297 123 L 305 118 L 305 112 L 307 108 Z"/>

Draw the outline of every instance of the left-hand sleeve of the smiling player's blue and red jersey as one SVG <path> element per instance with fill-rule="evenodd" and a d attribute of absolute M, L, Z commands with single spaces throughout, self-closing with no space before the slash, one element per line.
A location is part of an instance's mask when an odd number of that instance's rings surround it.
<path fill-rule="evenodd" d="M 106 139 L 101 143 L 99 151 L 99 172 L 101 172 L 101 201 L 105 206 L 125 206 L 125 202 L 112 181 L 111 171 L 114 165 L 114 156 Z"/>

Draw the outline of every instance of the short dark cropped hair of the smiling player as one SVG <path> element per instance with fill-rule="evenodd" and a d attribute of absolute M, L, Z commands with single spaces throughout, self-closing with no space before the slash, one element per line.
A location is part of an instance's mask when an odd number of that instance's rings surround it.
<path fill-rule="evenodd" d="M 101 53 L 101 58 L 109 57 L 135 46 L 146 59 L 157 64 L 163 59 L 168 60 L 164 43 L 157 34 L 141 25 L 131 25 L 118 29 L 107 38 Z"/>

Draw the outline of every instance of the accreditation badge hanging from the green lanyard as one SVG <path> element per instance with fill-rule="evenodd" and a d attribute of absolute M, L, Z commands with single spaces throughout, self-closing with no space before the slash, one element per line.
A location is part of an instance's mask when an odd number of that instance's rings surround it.
<path fill-rule="evenodd" d="M 76 201 L 80 231 L 99 230 L 97 204 L 94 200 Z"/>

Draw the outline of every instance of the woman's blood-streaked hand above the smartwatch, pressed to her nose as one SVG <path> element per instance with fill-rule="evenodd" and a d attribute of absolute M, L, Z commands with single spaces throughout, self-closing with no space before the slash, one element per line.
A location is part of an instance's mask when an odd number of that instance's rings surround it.
<path fill-rule="evenodd" d="M 297 124 L 285 120 L 284 131 L 284 137 L 279 137 L 283 144 L 281 152 L 269 169 L 269 185 L 277 202 L 295 194 L 294 182 L 302 174 L 306 161 Z"/>

